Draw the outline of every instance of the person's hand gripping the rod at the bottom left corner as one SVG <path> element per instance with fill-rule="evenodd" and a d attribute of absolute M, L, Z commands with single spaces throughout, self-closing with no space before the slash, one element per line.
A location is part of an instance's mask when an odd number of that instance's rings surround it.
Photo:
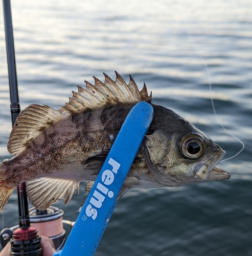
<path fill-rule="evenodd" d="M 42 256 L 52 256 L 56 250 L 52 239 L 41 236 Z M 11 244 L 8 243 L 0 252 L 0 256 L 11 256 Z"/>

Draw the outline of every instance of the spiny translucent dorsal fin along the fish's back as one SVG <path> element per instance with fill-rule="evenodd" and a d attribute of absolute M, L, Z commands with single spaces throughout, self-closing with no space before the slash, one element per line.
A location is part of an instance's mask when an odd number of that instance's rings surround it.
<path fill-rule="evenodd" d="M 14 155 L 19 154 L 50 125 L 73 114 L 100 109 L 104 106 L 140 101 L 151 102 L 151 95 L 148 96 L 146 86 L 139 91 L 131 76 L 129 83 L 126 84 L 117 72 L 116 75 L 115 81 L 104 73 L 104 83 L 94 77 L 94 86 L 89 82 L 86 82 L 85 89 L 78 86 L 78 93 L 73 92 L 73 97 L 59 110 L 54 110 L 47 105 L 28 106 L 17 117 L 7 145 L 8 151 Z"/>

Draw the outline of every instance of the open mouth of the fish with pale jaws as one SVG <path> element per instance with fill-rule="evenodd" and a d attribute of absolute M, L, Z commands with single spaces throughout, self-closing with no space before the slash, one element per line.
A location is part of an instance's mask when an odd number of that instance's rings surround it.
<path fill-rule="evenodd" d="M 197 170 L 196 176 L 203 178 L 205 181 L 229 179 L 230 173 L 216 167 L 216 165 L 221 161 L 224 155 L 225 155 L 224 151 L 222 151 L 221 153 L 217 153 L 215 155 L 211 165 L 208 167 L 208 172 L 207 172 L 208 174 L 206 175 L 207 177 L 204 177 L 204 178 L 202 177 L 201 169 L 205 167 L 204 164 L 201 166 L 201 168 Z"/>

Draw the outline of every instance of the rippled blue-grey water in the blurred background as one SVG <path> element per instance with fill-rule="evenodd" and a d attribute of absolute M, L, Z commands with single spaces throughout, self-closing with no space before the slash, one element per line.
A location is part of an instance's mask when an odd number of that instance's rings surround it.
<path fill-rule="evenodd" d="M 3 7 L 0 7 L 3 13 Z M 231 157 L 226 181 L 132 189 L 119 201 L 95 255 L 252 255 L 252 2 L 250 0 L 12 0 L 21 108 L 58 109 L 76 84 L 114 70 L 174 110 Z M 10 158 L 9 85 L 0 14 L 0 160 Z M 206 69 L 207 67 L 207 69 Z M 209 91 L 212 82 L 213 92 Z M 214 99 L 218 118 L 211 105 Z M 81 189 L 82 190 L 82 189 Z M 74 221 L 85 197 L 74 195 Z M 16 193 L 0 228 L 17 224 Z"/>

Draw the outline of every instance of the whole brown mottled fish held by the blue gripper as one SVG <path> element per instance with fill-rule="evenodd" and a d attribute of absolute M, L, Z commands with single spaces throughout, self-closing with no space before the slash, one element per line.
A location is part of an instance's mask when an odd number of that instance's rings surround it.
<path fill-rule="evenodd" d="M 145 83 L 139 90 L 131 75 L 128 84 L 117 72 L 115 80 L 104 76 L 104 82 L 94 77 L 94 85 L 85 81 L 85 89 L 78 86 L 58 110 L 31 104 L 20 112 L 7 144 L 14 157 L 0 163 L 0 212 L 23 182 L 40 210 L 58 199 L 67 204 L 81 181 L 88 181 L 90 189 L 127 114 L 140 101 L 153 106 L 153 120 L 119 198 L 133 187 L 230 178 L 216 167 L 225 155 L 222 148 L 186 119 L 152 103 Z"/>

